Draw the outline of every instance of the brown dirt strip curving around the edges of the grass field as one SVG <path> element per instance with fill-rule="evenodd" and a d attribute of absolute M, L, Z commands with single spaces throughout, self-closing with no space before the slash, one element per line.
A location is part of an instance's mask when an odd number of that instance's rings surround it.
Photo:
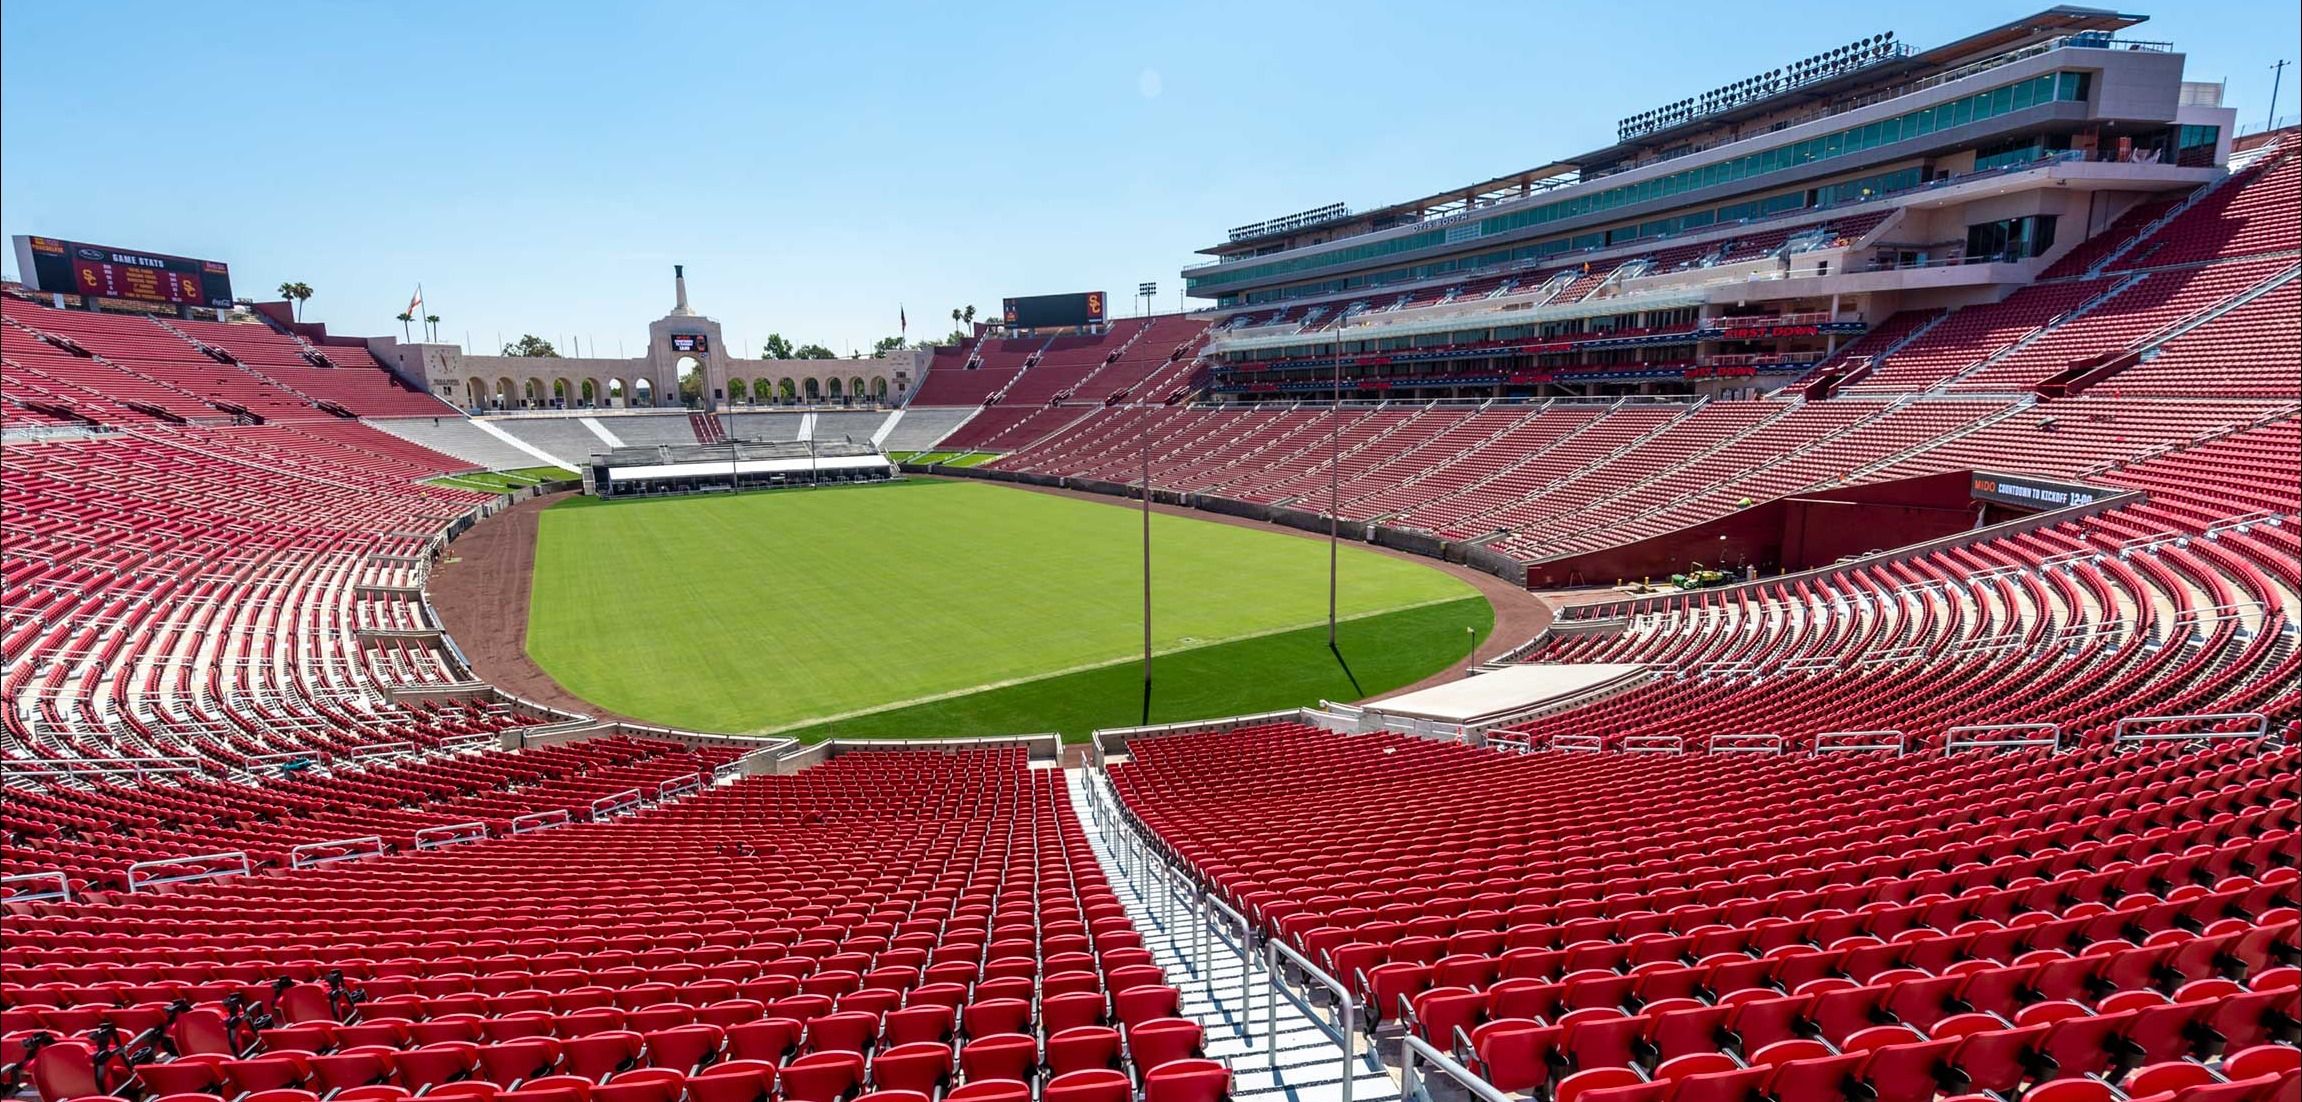
<path fill-rule="evenodd" d="M 1082 490 L 1054 490 L 1017 483 L 999 485 L 1015 485 L 1017 490 L 1057 497 L 1077 497 L 1084 502 L 1133 506 L 1133 502 L 1119 497 L 1091 495 Z M 527 658 L 527 589 L 536 573 L 536 515 L 564 497 L 569 495 L 559 492 L 532 497 L 488 520 L 481 520 L 470 531 L 458 536 L 456 543 L 449 543 L 447 557 L 430 575 L 433 610 L 440 612 L 442 626 L 456 637 L 456 646 L 463 649 L 463 656 L 472 663 L 472 672 L 479 674 L 481 681 L 488 681 L 490 686 L 516 697 L 527 697 L 536 704 L 599 715 L 603 720 L 631 720 L 631 715 L 617 715 L 569 692 L 559 686 L 559 681 L 552 681 L 543 667 Z M 1259 520 L 1202 513 L 1197 508 L 1167 504 L 1153 504 L 1151 508 L 1169 515 L 1211 520 L 1218 525 L 1278 531 L 1296 538 L 1326 538 L 1285 525 L 1264 525 Z M 1549 603 L 1501 577 L 1494 577 L 1492 573 L 1425 559 L 1402 550 L 1377 548 L 1372 543 L 1354 543 L 1354 548 L 1367 548 L 1377 554 L 1390 554 L 1393 559 L 1409 559 L 1446 571 L 1464 582 L 1471 582 L 1480 596 L 1494 605 L 1494 630 L 1485 642 L 1480 642 L 1478 651 L 1432 676 L 1425 676 L 1423 681 L 1416 681 L 1413 686 L 1386 692 L 1386 697 L 1453 681 L 1471 665 L 1485 663 L 1531 640 L 1552 623 Z"/>

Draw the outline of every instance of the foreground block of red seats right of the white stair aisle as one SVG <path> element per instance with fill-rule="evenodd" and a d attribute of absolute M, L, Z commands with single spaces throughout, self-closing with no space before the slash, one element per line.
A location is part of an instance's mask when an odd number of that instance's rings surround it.
<path fill-rule="evenodd" d="M 1358 1021 L 1508 1093 L 2293 1081 L 2293 748 L 1517 755 L 1275 725 L 1128 750 L 1114 789 L 1211 890 Z"/>

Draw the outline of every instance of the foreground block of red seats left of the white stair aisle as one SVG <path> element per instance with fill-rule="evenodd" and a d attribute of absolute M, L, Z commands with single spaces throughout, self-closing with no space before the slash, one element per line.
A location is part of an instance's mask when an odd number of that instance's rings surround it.
<path fill-rule="evenodd" d="M 18 904 L 5 1042 L 67 1033 L 32 1061 L 58 1100 L 1220 1097 L 1066 801 L 1022 750 L 849 752 L 601 824 Z M 94 1031 L 138 1028 L 173 1058 L 97 1067 Z"/>

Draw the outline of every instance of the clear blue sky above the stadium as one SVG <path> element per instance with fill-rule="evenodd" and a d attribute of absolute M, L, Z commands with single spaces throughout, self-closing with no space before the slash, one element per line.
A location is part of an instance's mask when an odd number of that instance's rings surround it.
<path fill-rule="evenodd" d="M 2046 7 L 481 2 L 0 7 L 0 232 L 233 265 L 387 334 L 635 352 L 688 267 L 739 350 L 948 331 L 1001 294 L 1163 308 L 1229 225 L 1404 200 L 1878 30 Z M 2244 127 L 2293 0 L 2159 2 L 2132 35 Z M 2297 115 L 2286 71 L 2279 115 Z M 14 260 L 7 260 L 14 276 Z"/>

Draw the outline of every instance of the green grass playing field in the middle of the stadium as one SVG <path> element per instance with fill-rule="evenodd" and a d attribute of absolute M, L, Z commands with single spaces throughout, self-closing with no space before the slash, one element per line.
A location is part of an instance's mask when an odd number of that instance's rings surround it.
<path fill-rule="evenodd" d="M 527 651 L 674 727 L 1084 736 L 1142 715 L 1139 541 L 1126 504 L 967 481 L 582 497 L 541 518 Z M 1347 669 L 1319 541 L 1172 515 L 1151 541 L 1153 722 L 1381 692 L 1492 626 L 1466 582 L 1344 545 Z"/>

